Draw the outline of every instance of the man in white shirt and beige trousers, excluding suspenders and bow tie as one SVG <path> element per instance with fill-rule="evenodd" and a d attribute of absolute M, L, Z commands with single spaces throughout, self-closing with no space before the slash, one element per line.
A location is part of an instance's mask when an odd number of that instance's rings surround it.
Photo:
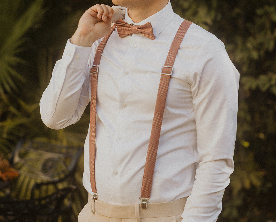
<path fill-rule="evenodd" d="M 141 33 L 121 38 L 115 28 L 102 52 L 95 127 L 98 199 L 92 200 L 88 131 L 83 184 L 89 201 L 78 220 L 216 221 L 234 168 L 239 73 L 220 40 L 190 25 L 169 82 L 148 209 L 141 209 L 160 69 L 184 19 L 168 0 L 113 3 L 127 7 L 125 22 L 150 22 L 155 39 Z M 41 98 L 41 117 L 48 127 L 64 128 L 83 114 L 90 101 L 89 69 L 113 14 L 110 6 L 97 4 L 80 18 Z M 182 204 L 175 204 L 179 200 Z"/>

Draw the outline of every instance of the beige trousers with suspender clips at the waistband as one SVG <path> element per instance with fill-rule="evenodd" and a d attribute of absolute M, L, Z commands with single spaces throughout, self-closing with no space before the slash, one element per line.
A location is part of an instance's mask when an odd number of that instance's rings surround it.
<path fill-rule="evenodd" d="M 93 203 L 92 195 L 89 194 L 88 202 L 79 213 L 78 222 L 180 222 L 181 214 L 187 197 L 167 203 L 147 204 L 143 210 L 141 204 L 117 205 L 96 200 Z"/>

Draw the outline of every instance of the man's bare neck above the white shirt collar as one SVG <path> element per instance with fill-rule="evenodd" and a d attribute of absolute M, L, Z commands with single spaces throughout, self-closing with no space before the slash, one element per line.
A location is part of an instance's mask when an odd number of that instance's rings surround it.
<path fill-rule="evenodd" d="M 158 0 L 152 1 L 151 4 L 146 4 L 145 6 L 131 6 L 128 8 L 128 15 L 133 22 L 139 23 L 146 18 L 154 15 L 156 12 L 159 12 L 168 4 L 168 0 Z"/>

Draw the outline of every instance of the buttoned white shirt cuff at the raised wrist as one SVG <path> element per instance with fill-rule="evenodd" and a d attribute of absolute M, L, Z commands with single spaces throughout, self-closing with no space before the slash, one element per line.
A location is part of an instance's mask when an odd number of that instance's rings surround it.
<path fill-rule="evenodd" d="M 70 68 L 84 69 L 87 66 L 88 59 L 92 50 L 91 47 L 77 46 L 68 39 L 61 62 Z"/>

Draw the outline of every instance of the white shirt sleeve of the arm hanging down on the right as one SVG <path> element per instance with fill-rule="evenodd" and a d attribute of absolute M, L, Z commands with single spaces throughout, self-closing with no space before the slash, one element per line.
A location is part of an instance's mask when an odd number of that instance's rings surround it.
<path fill-rule="evenodd" d="M 193 69 L 199 164 L 182 222 L 213 222 L 234 169 L 239 73 L 218 39 L 202 47 Z"/>

